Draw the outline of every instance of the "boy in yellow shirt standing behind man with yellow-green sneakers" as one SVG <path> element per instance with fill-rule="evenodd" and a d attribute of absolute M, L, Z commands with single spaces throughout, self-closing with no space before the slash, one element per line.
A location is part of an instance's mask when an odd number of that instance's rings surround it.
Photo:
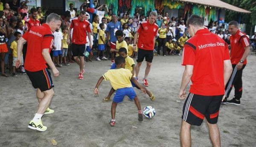
<path fill-rule="evenodd" d="M 21 33 L 16 31 L 14 33 L 14 36 L 16 37 L 15 40 L 11 43 L 11 46 L 10 48 L 12 49 L 12 76 L 13 77 L 17 77 L 16 75 L 16 67 L 15 67 L 15 63 L 16 63 L 16 60 L 18 58 L 18 54 L 17 54 L 17 41 L 20 39 L 21 37 Z M 23 56 L 21 56 L 21 65 L 23 65 Z M 20 66 L 20 73 L 21 74 L 26 74 L 26 72 L 22 71 L 22 66 Z"/>

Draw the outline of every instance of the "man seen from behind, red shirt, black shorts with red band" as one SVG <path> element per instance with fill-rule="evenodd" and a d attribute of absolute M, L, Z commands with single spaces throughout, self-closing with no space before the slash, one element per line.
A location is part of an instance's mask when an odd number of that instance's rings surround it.
<path fill-rule="evenodd" d="M 206 118 L 213 147 L 220 147 L 218 113 L 224 99 L 225 85 L 232 73 L 228 45 L 204 28 L 204 21 L 192 15 L 187 21 L 189 34 L 183 49 L 185 65 L 180 86 L 180 99 L 186 99 L 186 86 L 190 80 L 189 95 L 183 106 L 180 144 L 191 146 L 191 125 L 200 126 Z"/>

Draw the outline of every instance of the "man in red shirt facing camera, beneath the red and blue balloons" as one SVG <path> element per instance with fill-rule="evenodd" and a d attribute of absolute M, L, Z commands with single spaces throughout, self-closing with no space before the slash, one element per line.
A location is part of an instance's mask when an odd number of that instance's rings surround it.
<path fill-rule="evenodd" d="M 73 58 L 75 59 L 76 63 L 79 65 L 80 72 L 78 79 L 84 79 L 84 51 L 85 51 L 85 44 L 86 44 L 86 37 L 87 35 L 90 36 L 90 32 L 92 31 L 90 28 L 90 23 L 88 20 L 85 19 L 86 13 L 85 11 L 80 11 L 80 16 L 78 18 L 74 18 L 71 21 L 70 29 L 68 31 L 67 36 L 67 44 L 70 44 L 70 34 L 71 29 L 73 28 L 72 34 L 72 53 Z M 92 48 L 92 40 L 91 37 L 89 38 L 90 48 Z M 78 58 L 79 56 L 79 58 Z"/>

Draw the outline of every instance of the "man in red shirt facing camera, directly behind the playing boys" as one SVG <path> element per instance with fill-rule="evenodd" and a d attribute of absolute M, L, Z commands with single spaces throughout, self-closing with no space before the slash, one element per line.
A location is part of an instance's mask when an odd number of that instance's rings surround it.
<path fill-rule="evenodd" d="M 145 69 L 145 75 L 143 78 L 143 85 L 148 86 L 148 73 L 151 68 L 151 63 L 154 56 L 154 43 L 157 36 L 158 25 L 155 23 L 157 19 L 157 12 L 151 11 L 149 14 L 149 20 L 141 22 L 136 30 L 134 35 L 134 46 L 133 50 L 135 51 L 136 42 L 138 38 L 138 53 L 137 53 L 137 64 L 135 66 L 136 78 L 138 80 L 140 65 L 143 62 L 144 58 L 147 62 L 147 67 Z M 140 35 L 140 36 L 139 36 Z M 138 37 L 139 36 L 139 37 Z"/>

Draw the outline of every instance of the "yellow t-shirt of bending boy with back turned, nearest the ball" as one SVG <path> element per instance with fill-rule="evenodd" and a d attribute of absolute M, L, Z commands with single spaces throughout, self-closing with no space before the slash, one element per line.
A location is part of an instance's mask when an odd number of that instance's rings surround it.
<path fill-rule="evenodd" d="M 110 82 L 114 90 L 120 88 L 129 88 L 131 85 L 132 73 L 130 70 L 125 68 L 110 69 L 108 72 L 102 75 L 104 79 Z"/>

